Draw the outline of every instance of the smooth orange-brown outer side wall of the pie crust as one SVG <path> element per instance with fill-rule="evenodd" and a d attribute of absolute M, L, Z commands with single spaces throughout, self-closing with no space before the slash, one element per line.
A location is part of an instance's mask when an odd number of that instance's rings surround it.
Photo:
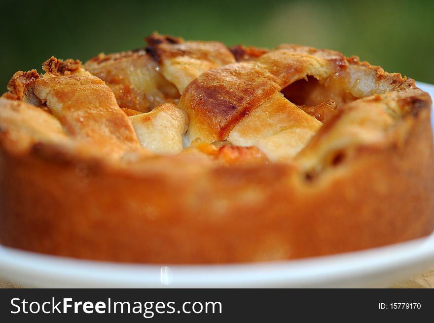
<path fill-rule="evenodd" d="M 141 263 L 231 263 L 352 251 L 434 229 L 430 114 L 312 182 L 290 165 L 127 170 L 0 154 L 0 241 Z"/>

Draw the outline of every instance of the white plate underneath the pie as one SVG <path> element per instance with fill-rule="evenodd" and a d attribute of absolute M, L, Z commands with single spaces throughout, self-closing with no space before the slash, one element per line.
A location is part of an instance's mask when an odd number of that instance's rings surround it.
<path fill-rule="evenodd" d="M 418 86 L 434 98 L 434 85 Z M 434 266 L 434 233 L 339 255 L 213 266 L 85 261 L 0 246 L 0 276 L 36 287 L 385 287 L 430 266 Z"/>

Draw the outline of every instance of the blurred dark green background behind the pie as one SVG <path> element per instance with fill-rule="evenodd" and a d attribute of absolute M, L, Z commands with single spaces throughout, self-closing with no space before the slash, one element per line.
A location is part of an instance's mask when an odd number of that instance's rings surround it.
<path fill-rule="evenodd" d="M 153 31 L 227 45 L 299 43 L 434 83 L 434 1 L 2 1 L 0 82 L 54 55 L 144 46 Z"/>

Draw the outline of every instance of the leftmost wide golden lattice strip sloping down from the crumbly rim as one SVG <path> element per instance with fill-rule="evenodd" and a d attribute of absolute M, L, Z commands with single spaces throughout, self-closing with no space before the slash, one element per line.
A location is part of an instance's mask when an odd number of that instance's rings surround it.
<path fill-rule="evenodd" d="M 68 75 L 37 80 L 33 90 L 65 131 L 115 155 L 139 147 L 131 122 L 109 87 L 93 76 Z"/>

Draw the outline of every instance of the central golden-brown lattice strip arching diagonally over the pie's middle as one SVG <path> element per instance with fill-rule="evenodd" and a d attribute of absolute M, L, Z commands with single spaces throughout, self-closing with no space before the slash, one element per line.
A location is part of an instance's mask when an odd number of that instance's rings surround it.
<path fill-rule="evenodd" d="M 325 58 L 324 58 L 325 57 Z M 341 61 L 322 52 L 296 54 L 278 49 L 252 62 L 240 62 L 203 73 L 183 93 L 180 106 L 190 119 L 190 140 L 224 140 L 235 125 L 290 83 L 336 73 Z M 224 80 L 224 81 L 221 81 Z"/>

